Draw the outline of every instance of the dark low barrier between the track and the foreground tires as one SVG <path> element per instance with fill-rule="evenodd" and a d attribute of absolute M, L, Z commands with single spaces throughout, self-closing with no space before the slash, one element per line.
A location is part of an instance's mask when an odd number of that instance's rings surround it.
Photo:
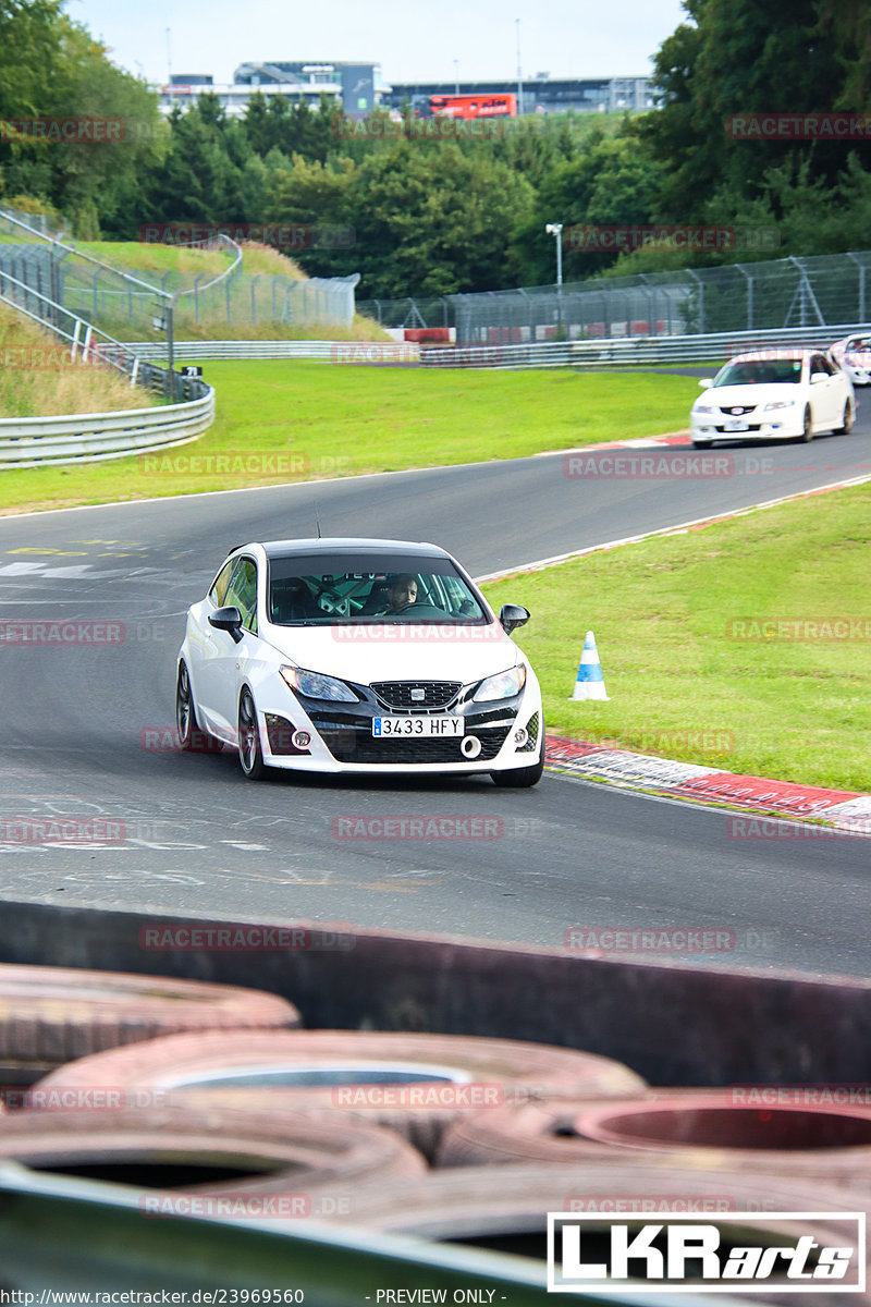
<path fill-rule="evenodd" d="M 162 915 L 161 923 L 189 919 Z M 336 948 L 319 950 L 154 951 L 140 946 L 149 924 L 145 914 L 7 903 L 0 961 L 269 989 L 294 1002 L 308 1029 L 486 1034 L 584 1048 L 652 1085 L 871 1081 L 868 982 L 349 928 Z"/>

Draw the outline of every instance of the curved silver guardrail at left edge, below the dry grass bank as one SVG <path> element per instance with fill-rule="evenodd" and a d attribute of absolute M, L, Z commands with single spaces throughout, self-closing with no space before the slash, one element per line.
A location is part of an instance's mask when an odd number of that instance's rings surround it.
<path fill-rule="evenodd" d="M 3 418 L 0 471 L 46 463 L 94 463 L 141 450 L 163 450 L 196 440 L 214 420 L 214 391 L 187 404 L 76 413 L 64 417 Z"/>

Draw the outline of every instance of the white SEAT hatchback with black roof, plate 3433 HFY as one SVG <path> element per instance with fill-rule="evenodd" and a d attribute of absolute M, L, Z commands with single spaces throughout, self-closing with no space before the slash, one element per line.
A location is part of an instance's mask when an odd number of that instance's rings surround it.
<path fill-rule="evenodd" d="M 183 749 L 242 770 L 542 775 L 542 697 L 511 631 L 458 562 L 402 540 L 234 549 L 188 610 L 176 673 Z"/>

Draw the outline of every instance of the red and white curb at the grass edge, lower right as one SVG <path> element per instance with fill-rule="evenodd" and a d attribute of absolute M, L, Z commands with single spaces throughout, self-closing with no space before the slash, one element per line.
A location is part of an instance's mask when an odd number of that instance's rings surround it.
<path fill-rule="evenodd" d="M 562 736 L 547 736 L 546 766 L 629 789 L 648 789 L 675 799 L 722 804 L 742 812 L 824 822 L 845 834 L 871 835 L 871 795 L 823 789 L 789 780 L 742 776 L 695 762 L 674 762 L 628 749 L 609 749 Z M 752 836 L 752 830 L 746 834 Z M 760 835 L 767 831 L 760 830 Z"/>

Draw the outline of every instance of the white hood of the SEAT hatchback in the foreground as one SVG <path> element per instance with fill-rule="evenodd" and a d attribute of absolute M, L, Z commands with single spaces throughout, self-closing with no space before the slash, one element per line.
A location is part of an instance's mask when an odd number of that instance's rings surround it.
<path fill-rule="evenodd" d="M 461 681 L 504 672 L 524 656 L 500 626 L 269 626 L 264 638 L 296 667 L 345 681 Z"/>

